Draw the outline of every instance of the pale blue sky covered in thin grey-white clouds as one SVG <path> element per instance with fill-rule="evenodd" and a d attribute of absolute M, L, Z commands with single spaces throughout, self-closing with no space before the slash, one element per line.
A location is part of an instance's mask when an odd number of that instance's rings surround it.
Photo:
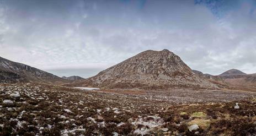
<path fill-rule="evenodd" d="M 256 1 L 0 1 L 0 57 L 60 77 L 165 48 L 203 73 L 256 73 Z"/>

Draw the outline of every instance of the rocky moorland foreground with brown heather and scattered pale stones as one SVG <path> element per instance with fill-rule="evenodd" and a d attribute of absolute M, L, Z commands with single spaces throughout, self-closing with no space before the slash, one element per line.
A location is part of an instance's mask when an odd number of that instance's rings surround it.
<path fill-rule="evenodd" d="M 256 135 L 255 93 L 0 85 L 0 135 Z"/>

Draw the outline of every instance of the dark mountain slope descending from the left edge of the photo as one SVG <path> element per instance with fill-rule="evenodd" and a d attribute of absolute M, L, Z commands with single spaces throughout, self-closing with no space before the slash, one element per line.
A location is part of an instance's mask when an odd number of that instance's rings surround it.
<path fill-rule="evenodd" d="M 67 80 L 57 77 L 54 74 L 0 57 L 0 83 L 9 83 L 15 81 L 67 83 Z"/>

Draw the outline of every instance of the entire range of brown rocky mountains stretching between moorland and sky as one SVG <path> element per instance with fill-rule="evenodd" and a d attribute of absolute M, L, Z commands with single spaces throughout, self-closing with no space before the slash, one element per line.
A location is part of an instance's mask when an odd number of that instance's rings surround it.
<path fill-rule="evenodd" d="M 168 50 L 147 50 L 87 79 L 54 74 L 0 57 L 0 83 L 40 82 L 102 89 L 232 88 L 256 90 L 256 74 L 230 69 L 220 75 L 191 70 Z"/>

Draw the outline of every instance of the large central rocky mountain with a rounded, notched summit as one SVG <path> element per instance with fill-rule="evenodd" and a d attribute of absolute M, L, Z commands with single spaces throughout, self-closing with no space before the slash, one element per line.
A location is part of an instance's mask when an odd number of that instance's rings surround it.
<path fill-rule="evenodd" d="M 179 56 L 168 50 L 141 52 L 94 77 L 70 85 L 102 89 L 217 88 L 196 76 Z"/>

